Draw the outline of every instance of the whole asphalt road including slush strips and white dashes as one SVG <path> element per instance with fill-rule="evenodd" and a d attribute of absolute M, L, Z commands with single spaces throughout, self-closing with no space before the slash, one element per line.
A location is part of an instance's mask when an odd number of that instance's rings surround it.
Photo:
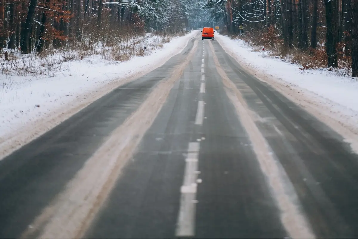
<path fill-rule="evenodd" d="M 93 158 L 154 94 L 144 132 L 119 131 L 121 159 Z M 82 192 L 90 167 L 111 173 Z M 1 238 L 358 237 L 357 155 L 200 36 L 1 160 L 0 195 Z"/>

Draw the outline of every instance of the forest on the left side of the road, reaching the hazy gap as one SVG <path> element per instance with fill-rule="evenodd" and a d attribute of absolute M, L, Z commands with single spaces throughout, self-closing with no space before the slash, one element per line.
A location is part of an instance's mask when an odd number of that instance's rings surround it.
<path fill-rule="evenodd" d="M 196 0 L 0 0 L 0 48 L 21 53 L 115 35 L 178 34 L 209 23 Z"/>

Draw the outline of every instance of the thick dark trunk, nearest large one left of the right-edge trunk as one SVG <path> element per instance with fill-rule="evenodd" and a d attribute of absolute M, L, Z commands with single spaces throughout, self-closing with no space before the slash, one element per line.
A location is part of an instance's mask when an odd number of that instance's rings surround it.
<path fill-rule="evenodd" d="M 328 67 L 337 68 L 337 50 L 338 42 L 338 0 L 325 0 L 326 5 L 326 51 L 328 56 Z"/>

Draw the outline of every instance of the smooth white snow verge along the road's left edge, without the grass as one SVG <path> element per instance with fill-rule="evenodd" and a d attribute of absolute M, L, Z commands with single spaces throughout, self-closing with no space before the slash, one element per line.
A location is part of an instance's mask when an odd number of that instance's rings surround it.
<path fill-rule="evenodd" d="M 92 56 L 62 63 L 66 70 L 54 77 L 0 75 L 0 159 L 116 87 L 160 67 L 197 34 L 194 30 L 127 62 Z"/>

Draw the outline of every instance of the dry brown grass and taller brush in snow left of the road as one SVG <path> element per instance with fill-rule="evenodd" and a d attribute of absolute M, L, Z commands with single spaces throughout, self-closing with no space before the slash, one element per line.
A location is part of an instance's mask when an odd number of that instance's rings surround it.
<path fill-rule="evenodd" d="M 185 34 L 185 33 L 180 33 Z M 180 35 L 179 34 L 179 35 Z M 105 26 L 93 29 L 87 25 L 83 29 L 81 41 L 66 40 L 59 48 L 49 47 L 41 53 L 20 54 L 18 50 L 8 50 L 9 61 L 5 60 L 0 49 L 0 74 L 4 75 L 47 75 L 54 76 L 62 69 L 62 63 L 82 60 L 91 55 L 100 55 L 104 60 L 121 62 L 134 56 L 144 56 L 170 41 L 178 34 L 136 32 L 129 27 L 122 29 Z"/>

